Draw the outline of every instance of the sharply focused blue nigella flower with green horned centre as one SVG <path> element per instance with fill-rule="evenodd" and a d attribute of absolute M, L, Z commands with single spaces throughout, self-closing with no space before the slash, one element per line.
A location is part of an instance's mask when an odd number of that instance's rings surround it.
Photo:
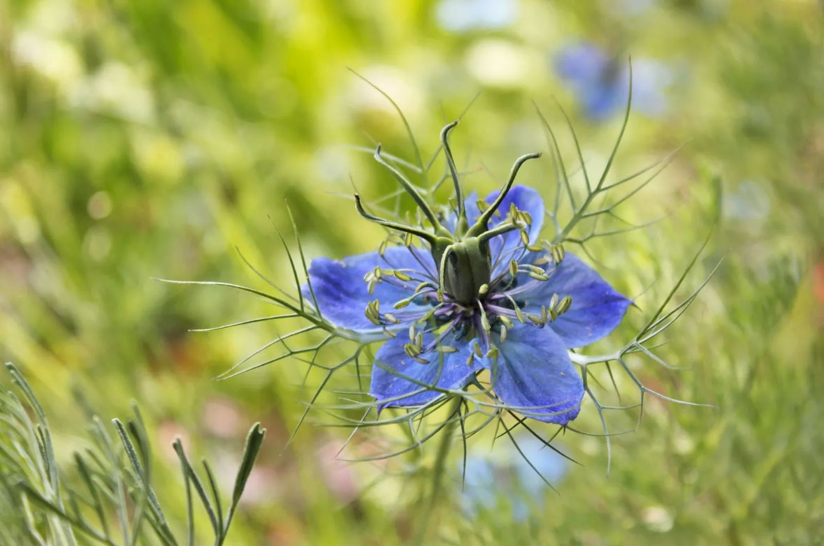
<path fill-rule="evenodd" d="M 455 185 L 452 211 L 436 214 L 400 170 L 375 157 L 414 198 L 429 226 L 361 216 L 404 236 L 376 252 L 309 268 L 313 298 L 325 320 L 364 336 L 386 334 L 372 366 L 378 408 L 421 406 L 489 371 L 499 407 L 564 425 L 578 415 L 581 376 L 568 349 L 609 334 L 630 300 L 559 245 L 540 245 L 544 203 L 514 185 L 517 159 L 500 192 L 462 198 L 448 134 L 441 133 Z M 413 245 L 414 239 L 422 246 Z"/>

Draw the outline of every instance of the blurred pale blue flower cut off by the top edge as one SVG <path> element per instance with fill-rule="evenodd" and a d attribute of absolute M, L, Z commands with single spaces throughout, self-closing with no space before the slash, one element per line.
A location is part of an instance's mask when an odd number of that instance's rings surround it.
<path fill-rule="evenodd" d="M 435 17 L 451 32 L 500 29 L 515 21 L 517 0 L 441 0 Z"/>

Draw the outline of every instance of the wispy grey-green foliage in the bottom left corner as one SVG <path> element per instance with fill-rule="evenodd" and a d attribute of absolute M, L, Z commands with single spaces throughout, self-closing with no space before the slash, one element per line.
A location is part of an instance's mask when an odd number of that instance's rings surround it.
<path fill-rule="evenodd" d="M 194 502 L 208 514 L 214 544 L 224 544 L 265 429 L 256 423 L 246 436 L 232 498 L 224 517 L 223 502 L 206 460 L 209 492 L 185 454 L 180 439 L 174 448 L 183 470 L 187 520 L 185 542 L 161 507 L 152 483 L 152 451 L 137 406 L 128 422 L 113 419 L 113 436 L 100 418 L 89 431 L 91 445 L 73 454 L 73 469 L 61 467 L 49 423 L 34 391 L 16 366 L 6 364 L 12 383 L 23 394 L 0 384 L 0 526 L 2 544 L 197 544 Z M 30 415 L 33 413 L 33 416 Z"/>

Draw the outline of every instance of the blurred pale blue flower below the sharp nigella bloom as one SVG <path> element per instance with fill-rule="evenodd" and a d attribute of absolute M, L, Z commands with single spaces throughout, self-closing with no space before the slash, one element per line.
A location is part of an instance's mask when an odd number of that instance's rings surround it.
<path fill-rule="evenodd" d="M 494 453 L 471 453 L 466 457 L 461 506 L 468 516 L 501 508 L 499 503 L 505 500 L 513 518 L 525 520 L 529 515 L 530 502 L 540 507 L 548 487 L 536 475 L 536 470 L 553 485 L 566 476 L 569 463 L 564 456 L 546 447 L 534 436 L 517 438 L 517 444 L 523 455 L 507 442 Z M 463 461 L 459 464 L 462 465 Z M 458 471 L 463 469 L 459 467 Z"/>

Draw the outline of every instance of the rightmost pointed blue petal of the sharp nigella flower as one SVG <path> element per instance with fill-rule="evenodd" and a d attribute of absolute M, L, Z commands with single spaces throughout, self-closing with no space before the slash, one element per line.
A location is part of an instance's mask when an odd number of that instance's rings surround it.
<path fill-rule="evenodd" d="M 527 310 L 540 314 L 541 306 L 549 304 L 553 293 L 559 298 L 572 297 L 569 310 L 548 324 L 569 348 L 583 347 L 609 334 L 632 304 L 578 256 L 569 253 L 550 280 L 527 294 Z"/>

